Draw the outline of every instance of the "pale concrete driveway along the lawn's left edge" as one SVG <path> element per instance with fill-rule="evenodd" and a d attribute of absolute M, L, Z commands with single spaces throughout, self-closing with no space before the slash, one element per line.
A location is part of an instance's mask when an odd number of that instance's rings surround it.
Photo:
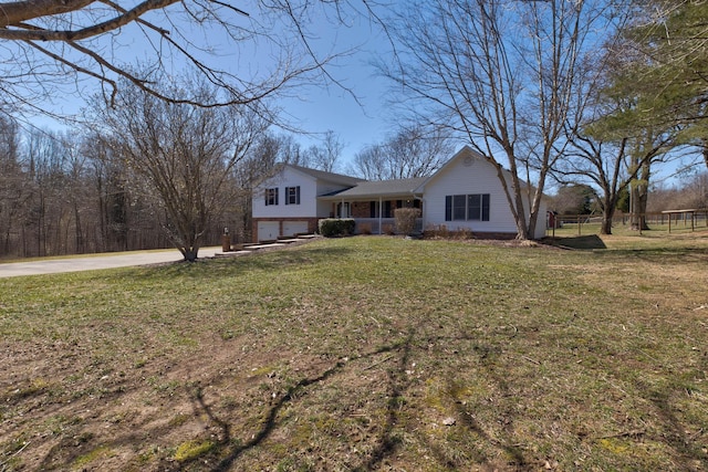
<path fill-rule="evenodd" d="M 220 251 L 221 247 L 201 248 L 199 250 L 199 258 L 212 258 Z M 8 262 L 0 263 L 0 277 L 129 268 L 181 260 L 183 256 L 179 251 L 176 249 L 166 249 L 164 251 L 132 251 L 129 253 L 121 252 L 116 254 L 103 253 L 80 258 L 48 259 L 32 262 Z"/>

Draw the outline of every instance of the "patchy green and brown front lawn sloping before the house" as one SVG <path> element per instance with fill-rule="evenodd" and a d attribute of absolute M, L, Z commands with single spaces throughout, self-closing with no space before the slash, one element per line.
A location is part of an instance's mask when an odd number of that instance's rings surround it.
<path fill-rule="evenodd" d="M 0 470 L 701 470 L 708 244 L 613 244 L 0 280 Z"/>

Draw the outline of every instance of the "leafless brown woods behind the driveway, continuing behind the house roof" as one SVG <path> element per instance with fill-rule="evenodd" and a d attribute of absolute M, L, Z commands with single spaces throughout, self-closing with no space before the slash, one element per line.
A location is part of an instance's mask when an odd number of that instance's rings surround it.
<path fill-rule="evenodd" d="M 252 106 L 196 107 L 131 87 L 115 101 L 95 99 L 72 132 L 1 117 L 0 258 L 176 247 L 195 260 L 225 229 L 235 242 L 251 241 L 252 189 L 279 164 L 406 178 L 429 175 L 450 150 L 440 134 L 402 128 L 345 164 L 334 132 L 302 146 Z M 374 147 L 397 154 L 376 167 L 366 158 Z"/>

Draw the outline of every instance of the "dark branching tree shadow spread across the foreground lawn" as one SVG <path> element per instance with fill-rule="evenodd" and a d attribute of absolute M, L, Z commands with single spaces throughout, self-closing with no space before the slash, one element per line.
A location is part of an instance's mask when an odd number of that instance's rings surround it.
<path fill-rule="evenodd" d="M 424 433 L 418 431 L 418 428 L 434 421 L 434 419 L 427 417 L 419 417 L 420 411 L 414 410 L 412 405 L 416 405 L 413 399 L 418 395 L 418 391 L 414 391 L 416 388 L 420 388 L 420 382 L 415 376 L 412 376 L 407 369 L 410 369 L 415 356 L 423 358 L 430 355 L 429 346 L 439 346 L 441 352 L 448 353 L 452 345 L 467 346 L 470 355 L 476 356 L 480 365 L 487 366 L 486 377 L 488 381 L 498 384 L 502 396 L 508 394 L 507 380 L 503 377 L 503 371 L 494 369 L 494 359 L 501 353 L 501 349 L 494 346 L 487 346 L 480 343 L 485 343 L 482 339 L 477 338 L 473 335 L 467 333 L 457 333 L 452 335 L 441 335 L 436 332 L 436 326 L 427 326 L 429 321 L 426 317 L 421 317 L 417 325 L 408 324 L 408 326 L 402 326 L 403 331 L 399 331 L 402 337 L 392 339 L 388 344 L 385 344 L 376 349 L 366 352 L 361 355 L 353 356 L 347 360 L 337 360 L 331 367 L 324 368 L 319 374 L 310 375 L 301 378 L 296 384 L 287 388 L 284 394 L 281 394 L 278 398 L 271 402 L 266 410 L 261 410 L 262 413 L 257 417 L 251 416 L 249 420 L 254 418 L 262 418 L 258 421 L 258 429 L 250 434 L 250 440 L 241 442 L 239 438 L 233 436 L 235 424 L 230 423 L 229 419 L 220 418 L 217 409 L 218 403 L 209 403 L 205 398 L 205 392 L 201 385 L 218 384 L 218 378 L 200 378 L 196 384 L 190 379 L 183 379 L 183 387 L 187 397 L 191 400 L 195 410 L 195 418 L 205 417 L 208 418 L 208 422 L 211 424 L 212 431 L 216 429 L 218 434 L 214 434 L 216 438 L 210 441 L 210 447 L 202 453 L 196 453 L 195 457 L 186 460 L 175 460 L 165 455 L 150 455 L 149 451 L 143 451 L 148 462 L 144 465 L 158 466 L 159 470 L 211 470 L 214 472 L 222 472 L 233 469 L 239 469 L 239 460 L 248 451 L 257 449 L 266 440 L 268 440 L 279 428 L 282 426 L 282 418 L 279 418 L 281 410 L 288 405 L 301 402 L 308 396 L 315 395 L 316 388 L 324 388 L 329 380 L 340 375 L 351 375 L 352 370 L 356 376 L 361 376 L 364 373 L 374 373 L 378 370 L 384 374 L 385 386 L 382 392 L 385 394 L 384 409 L 381 411 L 381 416 L 374 415 L 373 411 L 368 411 L 372 416 L 378 416 L 379 420 L 376 423 L 371 424 L 371 436 L 367 437 L 367 444 L 372 448 L 366 448 L 366 452 L 361 452 L 354 455 L 354 463 L 347 464 L 350 470 L 365 472 L 369 470 L 376 470 L 386 464 L 386 462 L 394 458 L 397 453 L 412 454 L 409 450 L 402 450 L 404 445 L 405 436 L 412 436 L 416 441 L 420 441 L 424 449 L 430 451 L 431 460 L 435 461 L 436 466 L 448 470 L 456 470 L 457 468 L 465 466 L 466 460 L 456 457 L 454 453 L 444 450 L 444 444 L 438 440 L 428 438 Z M 436 348 L 438 349 L 438 348 Z M 450 355 L 449 353 L 446 355 Z M 451 354 L 455 356 L 455 354 Z M 381 356 L 384 356 L 381 358 Z M 365 364 L 361 367 L 362 363 Z M 374 370 L 374 368 L 376 370 Z M 216 381 L 215 381 L 216 380 Z M 111 402 L 123 401 L 123 396 L 131 396 L 129 387 L 123 382 L 117 382 L 113 386 L 112 392 L 106 392 L 106 396 L 102 399 L 102 402 L 108 405 Z M 364 396 L 366 394 L 363 394 Z M 170 395 L 171 397 L 171 395 Z M 327 410 L 327 405 L 322 406 L 322 411 Z M 62 408 L 81 408 L 76 406 L 63 406 Z M 94 407 L 95 408 L 95 407 Z M 238 408 L 238 407 L 230 407 Z M 459 417 L 458 426 L 456 428 L 464 428 L 460 430 L 460 434 L 469 434 L 475 439 L 473 442 L 469 442 L 467 447 L 473 449 L 467 451 L 467 460 L 476 461 L 479 464 L 490 464 L 489 448 L 491 450 L 502 451 L 508 462 L 503 465 L 509 468 L 512 465 L 514 470 L 527 470 L 529 462 L 523 457 L 522 450 L 517 445 L 518 441 L 514 441 L 514 432 L 512 430 L 513 415 L 512 410 L 502 409 L 501 416 L 506 419 L 502 431 L 496 438 L 491 438 L 486 431 L 485 427 L 478 423 L 472 417 L 470 411 L 467 411 L 465 407 L 455 405 L 455 415 Z M 85 408 L 84 408 L 85 410 Z M 60 413 L 60 411 L 58 411 Z M 67 411 L 61 411 L 62 415 L 69 416 Z M 423 412 L 425 415 L 425 412 Z M 429 413 L 429 411 L 428 411 Z M 101 408 L 95 408 L 93 418 L 103 418 L 104 412 Z M 126 431 L 118 433 L 117 436 L 106 440 L 102 434 L 85 434 L 85 427 L 82 422 L 76 423 L 75 430 L 71 431 L 71 434 L 66 434 L 55 443 L 51 450 L 40 463 L 41 470 L 63 470 L 64 466 L 74 466 L 82 461 L 82 458 L 88 458 L 93 451 L 113 451 L 121 449 L 132 449 L 138 451 L 142 444 L 149 441 L 158 440 L 159 438 L 169 437 L 173 433 L 176 426 L 170 422 L 169 419 L 165 419 L 158 423 L 155 422 L 156 418 L 147 416 L 139 422 L 131 423 L 131 428 Z M 240 429 L 242 434 L 244 431 Z M 67 431 L 69 433 L 69 431 Z M 199 438 L 204 438 L 201 434 L 192 436 L 192 440 L 197 443 Z M 436 442 L 437 441 L 437 442 Z M 478 442 L 479 441 L 479 442 Z M 479 445 L 477 445 L 479 444 Z M 487 451 L 486 451 L 487 449 Z M 152 457 L 152 459 L 150 459 Z M 101 459 L 101 458 L 96 458 Z M 343 458 L 335 458 L 343 459 Z M 157 460 L 157 463 L 155 462 Z M 395 460 L 395 459 L 394 459 Z M 135 465 L 136 461 L 139 463 L 140 459 L 133 458 L 129 463 L 123 465 Z M 460 462 L 462 461 L 462 462 Z M 493 461 L 493 459 L 491 459 Z M 92 465 L 91 462 L 86 465 Z M 105 469 L 111 469 L 115 465 L 115 462 L 104 464 Z M 152 468 L 150 470 L 154 470 Z M 509 470 L 502 469 L 501 470 Z"/>

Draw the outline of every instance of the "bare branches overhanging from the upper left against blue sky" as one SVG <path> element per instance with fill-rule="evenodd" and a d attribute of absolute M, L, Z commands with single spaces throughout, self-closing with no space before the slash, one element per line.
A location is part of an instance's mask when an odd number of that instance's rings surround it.
<path fill-rule="evenodd" d="M 0 2 L 0 104 L 46 112 L 40 104 L 56 91 L 74 85 L 83 94 L 84 80 L 101 84 L 110 103 L 121 84 L 129 83 L 160 99 L 199 106 L 258 102 L 301 78 L 339 84 L 325 70 L 337 54 L 319 56 L 309 28 L 322 21 L 341 25 L 348 15 L 371 12 L 371 2 L 356 3 Z M 227 93 L 205 102 L 186 90 L 165 91 L 155 73 L 171 72 L 175 64 Z"/>

